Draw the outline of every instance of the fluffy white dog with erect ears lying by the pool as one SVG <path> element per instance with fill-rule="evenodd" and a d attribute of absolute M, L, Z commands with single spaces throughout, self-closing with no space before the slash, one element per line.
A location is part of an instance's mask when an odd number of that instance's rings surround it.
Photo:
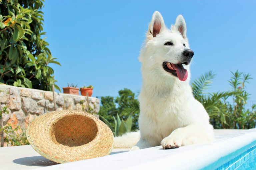
<path fill-rule="evenodd" d="M 115 138 L 115 148 L 143 149 L 162 144 L 178 148 L 213 139 L 213 127 L 189 85 L 190 63 L 186 23 L 179 15 L 171 29 L 156 11 L 141 49 L 143 84 L 139 95 L 140 132 Z"/>

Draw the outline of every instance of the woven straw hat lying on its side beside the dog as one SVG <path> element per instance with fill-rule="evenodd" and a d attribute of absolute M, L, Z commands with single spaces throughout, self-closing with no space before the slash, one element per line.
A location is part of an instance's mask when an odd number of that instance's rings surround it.
<path fill-rule="evenodd" d="M 27 127 L 31 146 L 43 157 L 66 163 L 110 154 L 114 136 L 95 116 L 63 110 L 35 118 Z"/>

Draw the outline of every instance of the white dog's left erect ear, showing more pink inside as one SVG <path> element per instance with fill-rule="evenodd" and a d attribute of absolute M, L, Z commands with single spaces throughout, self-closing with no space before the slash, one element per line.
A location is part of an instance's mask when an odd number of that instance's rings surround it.
<path fill-rule="evenodd" d="M 156 35 L 159 34 L 164 28 L 165 25 L 162 15 L 158 11 L 155 11 L 149 24 L 148 34 L 156 37 Z"/>

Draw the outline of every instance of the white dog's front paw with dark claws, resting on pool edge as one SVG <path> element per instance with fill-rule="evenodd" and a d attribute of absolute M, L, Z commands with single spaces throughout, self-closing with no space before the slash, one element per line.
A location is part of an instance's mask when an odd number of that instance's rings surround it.
<path fill-rule="evenodd" d="M 167 136 L 161 141 L 161 144 L 163 146 L 163 149 L 174 149 L 178 148 L 182 144 L 182 138 L 181 137 L 175 137 L 175 136 Z"/>

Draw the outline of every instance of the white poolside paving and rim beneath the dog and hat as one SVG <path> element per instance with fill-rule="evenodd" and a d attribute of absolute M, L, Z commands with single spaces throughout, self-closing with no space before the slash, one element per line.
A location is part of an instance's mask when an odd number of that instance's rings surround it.
<path fill-rule="evenodd" d="M 132 152 L 113 149 L 108 156 L 57 165 L 40 156 L 30 145 L 5 147 L 0 148 L 0 165 L 4 170 L 200 169 L 256 140 L 256 128 L 218 129 L 214 132 L 215 141 L 206 144 L 169 150 L 156 146 Z"/>

